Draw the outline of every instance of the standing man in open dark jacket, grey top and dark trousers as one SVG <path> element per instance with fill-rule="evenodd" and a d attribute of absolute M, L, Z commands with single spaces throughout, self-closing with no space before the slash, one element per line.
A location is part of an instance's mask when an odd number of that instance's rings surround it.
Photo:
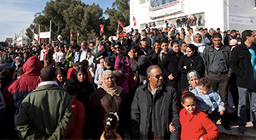
<path fill-rule="evenodd" d="M 221 43 L 222 36 L 213 33 L 213 45 L 204 49 L 203 60 L 205 64 L 205 76 L 211 81 L 212 90 L 218 92 L 224 102 L 225 113 L 222 116 L 222 125 L 230 130 L 229 119 L 227 118 L 228 109 L 228 84 L 231 75 L 230 69 L 230 47 Z"/>

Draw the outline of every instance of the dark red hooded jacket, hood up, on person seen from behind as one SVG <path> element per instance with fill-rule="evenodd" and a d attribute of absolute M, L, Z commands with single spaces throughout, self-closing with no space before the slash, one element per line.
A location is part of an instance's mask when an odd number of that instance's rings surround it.
<path fill-rule="evenodd" d="M 32 56 L 27 59 L 23 64 L 24 74 L 20 79 L 16 80 L 9 86 L 5 94 L 11 94 L 13 96 L 13 103 L 15 109 L 15 116 L 18 114 L 21 101 L 26 97 L 26 94 L 32 92 L 32 90 L 38 87 L 40 83 L 40 70 L 43 68 L 42 63 L 37 56 Z M 16 118 L 16 117 L 15 117 Z"/>

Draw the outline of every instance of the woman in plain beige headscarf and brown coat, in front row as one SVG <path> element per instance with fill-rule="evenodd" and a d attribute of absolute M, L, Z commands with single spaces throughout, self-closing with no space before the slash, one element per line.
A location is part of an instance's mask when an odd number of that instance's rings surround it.
<path fill-rule="evenodd" d="M 113 72 L 105 70 L 102 73 L 102 87 L 91 94 L 86 113 L 86 126 L 88 134 L 85 138 L 100 139 L 104 130 L 104 116 L 109 112 L 117 112 L 119 115 L 119 127 L 117 133 L 124 137 L 124 122 L 126 105 L 125 92 L 122 87 L 116 85 Z"/>

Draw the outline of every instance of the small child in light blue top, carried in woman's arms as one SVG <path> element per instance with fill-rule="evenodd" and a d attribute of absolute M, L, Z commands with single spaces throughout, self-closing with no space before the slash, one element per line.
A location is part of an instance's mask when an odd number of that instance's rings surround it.
<path fill-rule="evenodd" d="M 197 99 L 196 107 L 207 113 L 211 120 L 218 120 L 218 114 L 224 115 L 224 102 L 214 92 L 211 87 L 211 81 L 207 77 L 202 77 L 199 80 L 199 86 L 192 90 Z M 218 114 L 216 114 L 218 112 Z"/>

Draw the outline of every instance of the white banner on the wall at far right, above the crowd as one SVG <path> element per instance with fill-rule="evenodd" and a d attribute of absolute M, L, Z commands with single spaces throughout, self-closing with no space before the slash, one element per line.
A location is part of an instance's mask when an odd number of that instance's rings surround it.
<path fill-rule="evenodd" d="M 230 14 L 230 24 L 254 25 L 254 16 L 247 14 Z"/>

